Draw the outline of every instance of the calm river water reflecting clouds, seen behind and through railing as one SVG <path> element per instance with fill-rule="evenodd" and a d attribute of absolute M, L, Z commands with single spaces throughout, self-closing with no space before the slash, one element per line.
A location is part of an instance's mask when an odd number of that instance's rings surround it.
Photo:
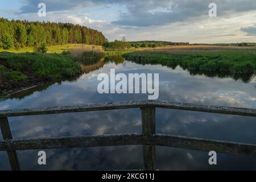
<path fill-rule="evenodd" d="M 63 81 L 30 90 L 0 102 L 0 109 L 61 106 L 146 100 L 147 94 L 98 94 L 97 75 L 110 73 L 159 73 L 159 100 L 205 105 L 256 107 L 256 81 L 190 75 L 180 67 L 123 63 L 98 64 L 77 80 Z M 141 132 L 139 109 L 95 111 L 9 118 L 15 139 L 63 137 Z M 164 134 L 229 140 L 256 144 L 256 120 L 251 117 L 156 109 L 156 131 Z M 0 136 L 2 137 L 2 135 Z M 2 139 L 2 138 L 1 138 Z M 39 150 L 18 151 L 23 170 L 65 169 L 142 169 L 142 146 L 70 148 L 45 150 L 47 165 L 37 163 Z M 256 159 L 245 156 L 217 155 L 217 166 L 209 166 L 208 153 L 156 147 L 156 168 L 176 169 L 256 169 Z M 0 169 L 10 169 L 6 152 L 0 152 Z"/>

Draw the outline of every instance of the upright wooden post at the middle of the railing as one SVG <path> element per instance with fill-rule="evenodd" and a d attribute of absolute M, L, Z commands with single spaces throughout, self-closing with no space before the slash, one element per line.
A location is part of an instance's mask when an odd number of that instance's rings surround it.
<path fill-rule="evenodd" d="M 155 134 L 155 107 L 142 107 L 142 133 L 147 138 Z M 144 170 L 155 171 L 155 146 L 143 146 Z"/>

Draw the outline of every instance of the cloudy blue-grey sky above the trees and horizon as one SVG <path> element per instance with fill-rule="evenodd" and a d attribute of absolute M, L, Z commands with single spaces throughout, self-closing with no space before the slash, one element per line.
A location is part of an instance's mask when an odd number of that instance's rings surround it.
<path fill-rule="evenodd" d="M 256 42 L 255 0 L 0 0 L 7 19 L 69 22 L 101 31 L 110 41 Z M 39 17 L 39 3 L 46 16 Z M 209 4 L 217 16 L 209 16 Z"/>

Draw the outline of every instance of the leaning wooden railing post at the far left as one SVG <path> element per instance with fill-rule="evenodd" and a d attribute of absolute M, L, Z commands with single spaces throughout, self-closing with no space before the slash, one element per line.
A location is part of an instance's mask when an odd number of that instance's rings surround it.
<path fill-rule="evenodd" d="M 1 127 L 2 136 L 4 140 L 13 139 L 13 136 L 11 135 L 9 122 L 6 117 L 0 118 L 0 127 Z M 11 165 L 11 169 L 13 169 L 13 171 L 20 171 L 19 160 L 18 160 L 16 151 L 7 151 L 7 154 L 8 154 L 9 162 Z"/>

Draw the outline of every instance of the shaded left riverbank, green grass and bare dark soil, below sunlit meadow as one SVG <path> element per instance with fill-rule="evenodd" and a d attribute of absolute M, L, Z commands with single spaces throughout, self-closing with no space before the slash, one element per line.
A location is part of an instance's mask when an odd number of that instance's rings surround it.
<path fill-rule="evenodd" d="M 44 53 L 0 53 L 0 96 L 71 77 L 81 72 L 69 55 Z"/>

